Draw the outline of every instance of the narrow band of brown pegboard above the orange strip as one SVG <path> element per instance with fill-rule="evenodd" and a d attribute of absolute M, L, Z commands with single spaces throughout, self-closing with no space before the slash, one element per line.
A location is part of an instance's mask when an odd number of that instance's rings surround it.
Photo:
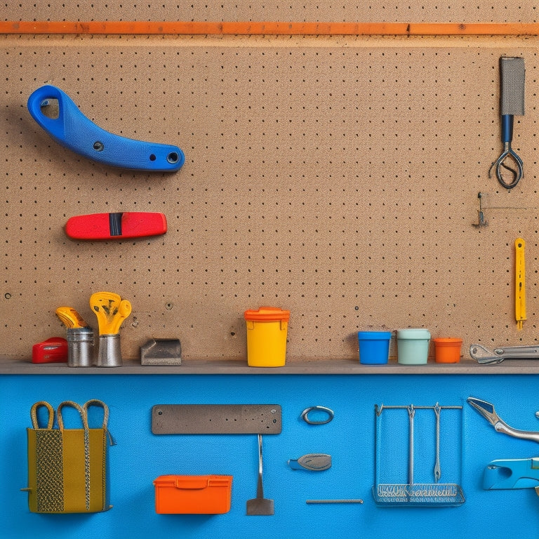
<path fill-rule="evenodd" d="M 93 0 L 70 4 L 63 0 L 4 1 L 4 20 L 206 20 L 206 21 L 359 21 L 359 22 L 535 22 L 537 13 L 531 0 L 512 2 L 440 3 L 439 0 L 411 0 L 391 4 L 378 1 L 319 3 L 274 2 L 192 2 L 159 1 L 128 4 L 124 1 Z"/>

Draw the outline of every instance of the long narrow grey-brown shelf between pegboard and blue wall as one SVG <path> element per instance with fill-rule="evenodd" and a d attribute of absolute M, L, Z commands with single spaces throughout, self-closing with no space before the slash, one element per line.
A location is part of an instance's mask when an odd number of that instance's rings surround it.
<path fill-rule="evenodd" d="M 512 359 L 500 364 L 479 365 L 472 359 L 456 364 L 428 363 L 426 365 L 401 365 L 390 361 L 385 365 L 362 365 L 356 359 L 287 361 L 284 367 L 249 367 L 244 359 L 183 359 L 180 366 L 142 366 L 138 360 L 124 360 L 121 367 L 69 368 L 67 364 L 32 364 L 29 359 L 0 356 L 0 375 L 93 375 L 93 374 L 539 374 L 539 361 Z"/>

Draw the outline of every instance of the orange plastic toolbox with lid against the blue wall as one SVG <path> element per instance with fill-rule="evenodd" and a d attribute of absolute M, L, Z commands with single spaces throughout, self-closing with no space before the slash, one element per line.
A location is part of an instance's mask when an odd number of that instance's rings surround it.
<path fill-rule="evenodd" d="M 230 510 L 232 475 L 160 475 L 155 512 L 222 514 Z"/>

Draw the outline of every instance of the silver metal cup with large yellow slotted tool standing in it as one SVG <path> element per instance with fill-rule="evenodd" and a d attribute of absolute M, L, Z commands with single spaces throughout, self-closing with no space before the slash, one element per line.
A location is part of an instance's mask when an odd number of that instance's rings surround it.
<path fill-rule="evenodd" d="M 120 326 L 131 314 L 131 303 L 113 292 L 96 292 L 90 297 L 90 307 L 98 318 L 98 367 L 119 367 L 122 364 Z"/>

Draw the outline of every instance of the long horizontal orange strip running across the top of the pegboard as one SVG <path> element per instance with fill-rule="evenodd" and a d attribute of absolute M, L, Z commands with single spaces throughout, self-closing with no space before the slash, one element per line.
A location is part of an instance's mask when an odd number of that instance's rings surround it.
<path fill-rule="evenodd" d="M 204 22 L 0 21 L 0 34 L 178 34 L 319 36 L 537 36 L 539 23 L 521 22 Z"/>

